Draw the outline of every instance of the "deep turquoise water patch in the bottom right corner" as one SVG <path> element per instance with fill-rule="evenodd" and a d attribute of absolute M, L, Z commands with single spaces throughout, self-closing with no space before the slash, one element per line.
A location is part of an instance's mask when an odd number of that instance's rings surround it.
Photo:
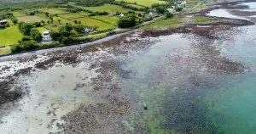
<path fill-rule="evenodd" d="M 225 133 L 256 133 L 255 74 L 224 81 L 225 86 L 212 89 L 206 97 L 210 120 Z"/>

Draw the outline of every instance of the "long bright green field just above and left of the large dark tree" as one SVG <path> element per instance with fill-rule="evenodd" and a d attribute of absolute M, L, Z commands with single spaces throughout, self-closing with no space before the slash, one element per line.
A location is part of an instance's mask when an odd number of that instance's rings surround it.
<path fill-rule="evenodd" d="M 79 6 L 79 8 L 84 8 L 84 9 L 88 9 L 90 11 L 93 12 L 108 12 L 109 14 L 116 14 L 116 12 L 122 12 L 122 13 L 126 13 L 128 11 L 132 11 L 129 8 L 123 8 L 117 5 L 113 5 L 113 4 L 104 4 L 103 6 L 99 6 L 99 7 L 82 7 Z"/>

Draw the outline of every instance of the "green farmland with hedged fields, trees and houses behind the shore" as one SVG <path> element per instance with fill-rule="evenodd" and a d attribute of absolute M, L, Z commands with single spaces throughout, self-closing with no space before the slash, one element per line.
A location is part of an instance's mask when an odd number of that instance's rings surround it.
<path fill-rule="evenodd" d="M 194 0 L 189 2 L 191 2 L 189 6 L 197 4 Z M 167 11 L 167 8 L 175 5 L 172 1 L 160 0 L 54 0 L 2 3 L 0 20 L 7 20 L 8 23 L 0 27 L 0 36 L 3 38 L 0 41 L 0 46 L 3 46 L 0 48 L 0 55 L 26 52 L 27 47 L 24 46 L 26 44 L 31 46 L 31 42 L 37 47 L 29 47 L 29 51 L 45 48 L 45 44 L 48 45 L 46 47 L 55 45 L 60 47 L 78 42 L 90 42 L 102 36 L 112 35 L 116 31 L 131 30 L 136 25 L 141 25 L 142 29 L 177 26 L 183 24 L 183 19 Z M 176 9 L 183 12 L 183 8 Z M 143 22 L 158 17 L 161 19 L 143 25 Z M 209 20 L 195 19 L 195 22 L 204 21 Z M 72 29 L 63 35 L 60 30 L 67 25 Z M 52 42 L 42 42 L 44 31 L 51 31 L 57 37 L 54 36 L 55 40 Z M 23 43 L 22 39 L 27 37 L 30 39 L 29 43 L 28 41 Z M 50 43 L 53 45 L 49 45 Z M 16 50 L 19 45 L 23 46 L 22 49 L 18 47 L 19 49 Z"/>

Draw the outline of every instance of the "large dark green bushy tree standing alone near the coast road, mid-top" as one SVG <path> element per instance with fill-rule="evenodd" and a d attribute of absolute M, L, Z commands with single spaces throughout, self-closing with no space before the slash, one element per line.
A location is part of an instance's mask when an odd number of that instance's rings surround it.
<path fill-rule="evenodd" d="M 135 14 L 127 14 L 124 17 L 119 18 L 118 25 L 120 28 L 127 28 L 136 25 L 136 15 Z"/>

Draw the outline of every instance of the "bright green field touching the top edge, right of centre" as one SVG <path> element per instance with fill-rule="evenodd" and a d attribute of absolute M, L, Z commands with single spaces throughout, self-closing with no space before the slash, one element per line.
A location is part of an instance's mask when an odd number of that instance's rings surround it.
<path fill-rule="evenodd" d="M 154 3 L 166 3 L 165 1 L 160 0 L 117 0 L 119 2 L 127 2 L 127 3 L 137 3 L 138 5 L 142 5 L 145 7 L 151 7 Z"/>

